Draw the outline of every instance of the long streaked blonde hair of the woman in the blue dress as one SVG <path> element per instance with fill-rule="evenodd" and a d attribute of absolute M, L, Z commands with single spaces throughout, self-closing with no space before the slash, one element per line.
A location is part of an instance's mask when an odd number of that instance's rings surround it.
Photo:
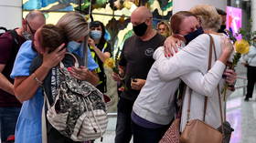
<path fill-rule="evenodd" d="M 63 15 L 57 26 L 64 30 L 69 41 L 79 40 L 83 36 L 88 36 L 90 32 L 86 19 L 76 12 Z"/>

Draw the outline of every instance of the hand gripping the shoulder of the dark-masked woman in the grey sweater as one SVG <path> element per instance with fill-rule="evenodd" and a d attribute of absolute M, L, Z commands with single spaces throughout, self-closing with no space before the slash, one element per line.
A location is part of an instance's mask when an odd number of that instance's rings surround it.
<path fill-rule="evenodd" d="M 177 52 L 178 46 L 181 46 L 181 41 L 174 36 L 168 36 L 164 44 L 165 57 L 173 56 Z"/>

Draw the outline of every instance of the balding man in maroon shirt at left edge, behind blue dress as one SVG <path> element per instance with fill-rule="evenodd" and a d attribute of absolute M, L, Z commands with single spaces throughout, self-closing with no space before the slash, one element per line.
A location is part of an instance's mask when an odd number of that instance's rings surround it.
<path fill-rule="evenodd" d="M 16 119 L 21 104 L 14 96 L 14 80 L 10 78 L 19 47 L 45 25 L 46 18 L 39 11 L 31 11 L 22 20 L 22 27 L 0 36 L 0 130 L 1 139 L 5 141 L 15 134 Z"/>

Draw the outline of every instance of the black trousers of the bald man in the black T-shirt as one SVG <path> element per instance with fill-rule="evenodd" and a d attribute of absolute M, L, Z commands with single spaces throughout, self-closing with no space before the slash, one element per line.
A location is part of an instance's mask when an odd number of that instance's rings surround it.
<path fill-rule="evenodd" d="M 115 143 L 129 143 L 132 138 L 131 113 L 133 101 L 120 97 L 117 105 Z"/>

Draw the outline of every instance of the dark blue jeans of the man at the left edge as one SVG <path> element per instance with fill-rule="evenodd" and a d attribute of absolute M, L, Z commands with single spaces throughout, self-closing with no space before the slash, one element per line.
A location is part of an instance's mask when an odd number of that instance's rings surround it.
<path fill-rule="evenodd" d="M 5 141 L 10 135 L 15 135 L 16 120 L 19 111 L 20 107 L 0 107 L 0 130 L 2 141 Z"/>

